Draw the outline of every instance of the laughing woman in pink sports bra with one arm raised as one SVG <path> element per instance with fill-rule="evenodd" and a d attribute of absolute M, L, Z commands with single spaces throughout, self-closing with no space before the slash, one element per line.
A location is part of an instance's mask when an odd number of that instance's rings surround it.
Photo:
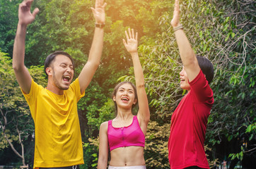
<path fill-rule="evenodd" d="M 149 123 L 149 103 L 144 87 L 144 75 L 139 62 L 138 33 L 125 31 L 127 42 L 124 46 L 131 54 L 134 65 L 136 87 L 131 82 L 121 82 L 115 87 L 112 99 L 115 102 L 116 118 L 100 125 L 100 147 L 98 169 L 107 168 L 110 150 L 109 169 L 145 169 L 144 146 Z M 139 102 L 137 115 L 132 108 Z"/>

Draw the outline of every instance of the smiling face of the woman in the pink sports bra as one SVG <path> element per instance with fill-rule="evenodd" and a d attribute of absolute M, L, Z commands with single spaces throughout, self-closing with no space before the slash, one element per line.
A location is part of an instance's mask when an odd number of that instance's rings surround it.
<path fill-rule="evenodd" d="M 117 89 L 117 93 L 112 99 L 117 104 L 117 108 L 132 110 L 132 105 L 136 104 L 134 88 L 131 84 L 124 83 Z"/>

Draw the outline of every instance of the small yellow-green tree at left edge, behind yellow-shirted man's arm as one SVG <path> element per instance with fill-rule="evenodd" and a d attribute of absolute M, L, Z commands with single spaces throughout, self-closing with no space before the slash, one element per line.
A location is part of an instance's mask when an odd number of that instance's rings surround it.
<path fill-rule="evenodd" d="M 21 158 L 22 165 L 28 164 L 26 156 L 31 156 L 25 147 L 32 140 L 34 125 L 28 105 L 16 82 L 12 60 L 0 51 L 0 151 L 10 146 Z M 45 84 L 42 66 L 29 68 L 36 82 Z M 33 143 L 30 143 L 33 144 Z"/>

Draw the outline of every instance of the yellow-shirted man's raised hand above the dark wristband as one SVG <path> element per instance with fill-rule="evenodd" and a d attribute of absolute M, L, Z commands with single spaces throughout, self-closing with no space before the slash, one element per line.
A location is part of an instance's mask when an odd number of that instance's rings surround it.
<path fill-rule="evenodd" d="M 93 11 L 93 16 L 95 18 L 95 23 L 104 24 L 105 23 L 105 6 L 104 0 L 96 0 L 95 8 L 91 7 Z"/>

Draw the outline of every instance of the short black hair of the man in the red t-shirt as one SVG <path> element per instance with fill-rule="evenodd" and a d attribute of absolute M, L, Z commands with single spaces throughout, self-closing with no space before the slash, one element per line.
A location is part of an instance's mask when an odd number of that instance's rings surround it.
<path fill-rule="evenodd" d="M 201 68 L 202 72 L 204 73 L 206 80 L 210 84 L 211 81 L 214 79 L 214 65 L 212 65 L 211 61 L 208 58 L 197 56 L 197 61 L 199 67 Z"/>

